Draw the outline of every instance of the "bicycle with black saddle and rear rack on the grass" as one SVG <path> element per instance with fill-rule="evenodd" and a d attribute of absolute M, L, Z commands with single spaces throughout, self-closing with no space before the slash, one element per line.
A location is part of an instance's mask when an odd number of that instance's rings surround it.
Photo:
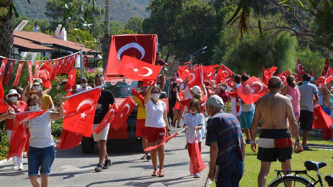
<path fill-rule="evenodd" d="M 278 186 L 287 186 L 287 182 L 292 183 L 292 186 L 306 186 L 306 187 L 315 187 L 317 183 L 320 184 L 321 187 L 324 187 L 323 181 L 321 179 L 321 174 L 319 173 L 319 169 L 325 167 L 326 162 L 314 162 L 314 161 L 306 161 L 304 162 L 305 170 L 274 170 L 277 173 L 277 177 L 273 179 L 267 187 L 278 187 Z M 308 174 L 308 171 L 317 172 L 318 180 L 314 179 Z M 295 173 L 295 175 L 287 174 L 283 175 L 283 172 L 286 173 Z M 282 173 L 282 175 L 281 175 Z M 304 174 L 308 176 L 310 180 L 305 177 L 299 176 L 298 174 Z M 333 175 L 326 175 L 325 181 L 328 186 L 333 186 Z"/>

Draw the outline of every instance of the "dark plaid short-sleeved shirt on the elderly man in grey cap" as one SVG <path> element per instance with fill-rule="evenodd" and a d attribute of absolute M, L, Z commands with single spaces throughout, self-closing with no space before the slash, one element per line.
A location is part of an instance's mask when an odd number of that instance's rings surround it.
<path fill-rule="evenodd" d="M 217 143 L 216 164 L 220 169 L 227 167 L 236 156 L 244 160 L 241 150 L 242 137 L 240 124 L 234 115 L 220 111 L 208 119 L 206 145 Z"/>

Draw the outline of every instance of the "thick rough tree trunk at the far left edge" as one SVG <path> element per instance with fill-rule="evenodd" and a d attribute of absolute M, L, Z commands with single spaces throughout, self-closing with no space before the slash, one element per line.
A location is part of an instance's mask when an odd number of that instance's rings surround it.
<path fill-rule="evenodd" d="M 12 1 L 8 2 L 7 8 L 9 10 L 9 5 Z M 9 11 L 8 11 L 9 12 Z M 9 13 L 5 17 L 0 17 L 0 55 L 3 57 L 11 58 L 13 56 L 13 45 L 14 45 L 14 37 L 13 37 L 13 25 L 12 19 L 14 16 L 14 12 L 9 15 Z"/>

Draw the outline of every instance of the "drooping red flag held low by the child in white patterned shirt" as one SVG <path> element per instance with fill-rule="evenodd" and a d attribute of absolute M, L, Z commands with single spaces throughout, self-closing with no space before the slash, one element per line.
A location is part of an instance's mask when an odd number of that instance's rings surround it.
<path fill-rule="evenodd" d="M 198 138 L 195 136 L 191 149 L 191 158 L 190 158 L 191 161 L 189 163 L 189 173 L 191 175 L 194 175 L 206 169 L 206 166 L 201 158 L 201 153 L 199 150 L 199 145 L 197 140 Z"/>

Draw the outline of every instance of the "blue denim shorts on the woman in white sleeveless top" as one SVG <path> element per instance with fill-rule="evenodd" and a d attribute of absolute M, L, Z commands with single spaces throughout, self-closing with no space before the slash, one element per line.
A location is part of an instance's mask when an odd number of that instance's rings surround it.
<path fill-rule="evenodd" d="M 54 146 L 36 148 L 29 146 L 28 156 L 28 176 L 38 175 L 39 167 L 41 168 L 41 175 L 50 175 L 50 170 L 56 152 Z"/>

